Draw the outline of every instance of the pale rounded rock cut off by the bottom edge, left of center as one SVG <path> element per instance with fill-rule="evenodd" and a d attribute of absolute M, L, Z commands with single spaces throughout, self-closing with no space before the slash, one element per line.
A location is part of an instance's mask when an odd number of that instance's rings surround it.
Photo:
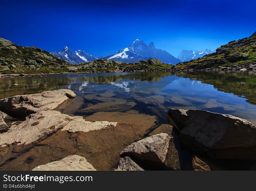
<path fill-rule="evenodd" d="M 79 155 L 69 155 L 61 160 L 47 163 L 46 165 L 40 165 L 35 167 L 35 171 L 38 170 L 96 170 L 93 165 L 88 163 L 86 158 Z"/>

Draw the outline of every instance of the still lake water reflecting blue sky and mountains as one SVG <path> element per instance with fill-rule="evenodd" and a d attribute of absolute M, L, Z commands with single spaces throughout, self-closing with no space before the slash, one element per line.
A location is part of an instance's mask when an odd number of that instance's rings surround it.
<path fill-rule="evenodd" d="M 256 124 L 255 72 L 51 74 L 2 78 L 0 98 L 60 88 L 77 94 L 77 98 L 61 110 L 68 115 L 88 116 L 92 113 L 81 114 L 78 111 L 103 101 L 112 102 L 111 98 L 131 102 L 129 95 L 138 95 L 157 99 L 167 109 L 202 109 L 234 115 Z M 123 112 L 150 114 L 138 105 Z M 165 119 L 167 116 L 158 117 Z"/>

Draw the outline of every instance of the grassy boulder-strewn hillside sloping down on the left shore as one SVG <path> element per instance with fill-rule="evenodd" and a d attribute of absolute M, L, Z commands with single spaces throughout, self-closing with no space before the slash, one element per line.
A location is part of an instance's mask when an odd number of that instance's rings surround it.
<path fill-rule="evenodd" d="M 37 47 L 22 47 L 0 38 L 1 73 L 67 72 L 71 64 Z"/>

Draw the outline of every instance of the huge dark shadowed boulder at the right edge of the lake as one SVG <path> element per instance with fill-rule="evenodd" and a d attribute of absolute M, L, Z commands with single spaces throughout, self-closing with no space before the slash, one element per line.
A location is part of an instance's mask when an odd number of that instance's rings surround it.
<path fill-rule="evenodd" d="M 180 143 L 190 150 L 223 159 L 256 159 L 256 127 L 247 120 L 204 110 L 170 109 Z"/>

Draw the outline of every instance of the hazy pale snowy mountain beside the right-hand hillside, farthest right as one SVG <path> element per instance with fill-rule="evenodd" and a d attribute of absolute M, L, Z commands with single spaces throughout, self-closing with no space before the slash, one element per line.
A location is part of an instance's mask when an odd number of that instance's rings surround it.
<path fill-rule="evenodd" d="M 202 56 L 205 56 L 206 54 L 209 53 L 214 53 L 216 50 L 215 49 L 205 49 L 205 50 L 183 50 L 179 53 L 179 58 L 182 62 L 186 62 L 189 60 L 194 60 L 197 58 L 201 58 Z"/>

